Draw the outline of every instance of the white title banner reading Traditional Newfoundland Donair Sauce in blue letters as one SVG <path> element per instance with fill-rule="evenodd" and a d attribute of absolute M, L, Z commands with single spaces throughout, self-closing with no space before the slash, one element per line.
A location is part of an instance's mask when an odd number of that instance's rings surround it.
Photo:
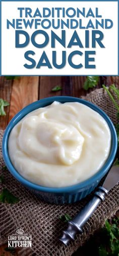
<path fill-rule="evenodd" d="M 2 2 L 1 75 L 118 75 L 117 2 Z"/>

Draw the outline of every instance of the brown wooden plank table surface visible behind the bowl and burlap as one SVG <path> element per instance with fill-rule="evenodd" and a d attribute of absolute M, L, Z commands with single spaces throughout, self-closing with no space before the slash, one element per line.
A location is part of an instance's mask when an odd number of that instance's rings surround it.
<path fill-rule="evenodd" d="M 16 80 L 7 80 L 4 77 L 0 77 L 0 98 L 10 103 L 10 106 L 5 108 L 6 116 L 0 117 L 0 129 L 4 130 L 11 118 L 13 118 L 18 111 L 38 99 L 58 95 L 69 95 L 80 98 L 81 95 L 86 95 L 86 93 L 89 93 L 92 89 L 88 91 L 83 89 L 85 79 L 86 77 L 77 76 L 29 76 L 19 77 L 19 79 Z M 115 83 L 115 85 L 118 86 L 118 81 L 118 77 L 100 77 L 97 87 L 101 87 L 102 84 L 110 85 L 111 83 Z M 62 90 L 52 92 L 51 89 L 56 85 L 61 86 Z M 6 247 L 7 245 L 0 247 L 0 256 L 13 255 L 4 250 Z M 18 255 L 17 250 L 14 255 Z"/>

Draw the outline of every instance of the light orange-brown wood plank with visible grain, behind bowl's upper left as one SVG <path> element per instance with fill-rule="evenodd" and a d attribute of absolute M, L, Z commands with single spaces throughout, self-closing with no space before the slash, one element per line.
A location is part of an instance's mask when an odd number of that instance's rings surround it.
<path fill-rule="evenodd" d="M 20 77 L 14 80 L 11 94 L 9 121 L 28 104 L 38 100 L 39 77 Z"/>

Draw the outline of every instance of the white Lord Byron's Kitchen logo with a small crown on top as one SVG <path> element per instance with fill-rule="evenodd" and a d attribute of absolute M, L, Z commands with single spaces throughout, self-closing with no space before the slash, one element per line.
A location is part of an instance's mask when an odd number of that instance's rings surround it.
<path fill-rule="evenodd" d="M 24 234 L 23 229 L 17 229 L 15 234 L 8 236 L 8 248 L 32 247 L 32 236 Z"/>

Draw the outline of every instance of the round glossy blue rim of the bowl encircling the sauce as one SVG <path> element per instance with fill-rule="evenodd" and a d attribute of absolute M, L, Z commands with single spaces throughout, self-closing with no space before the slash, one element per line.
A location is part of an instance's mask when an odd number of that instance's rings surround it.
<path fill-rule="evenodd" d="M 105 119 L 105 121 L 107 122 L 107 124 L 109 126 L 110 132 L 111 132 L 110 153 L 109 153 L 109 156 L 108 156 L 105 164 L 101 167 L 101 169 L 97 173 L 95 173 L 93 176 L 91 176 L 89 179 L 87 179 L 81 183 L 77 183 L 75 185 L 66 186 L 66 187 L 46 187 L 46 186 L 41 186 L 41 185 L 32 183 L 31 181 L 25 179 L 23 176 L 21 176 L 17 172 L 17 170 L 12 165 L 12 163 L 10 161 L 9 153 L 8 153 L 8 139 L 9 139 L 9 135 L 10 135 L 10 132 L 13 129 L 13 127 L 29 112 L 31 112 L 35 109 L 38 109 L 39 107 L 48 106 L 54 101 L 59 101 L 61 103 L 79 102 L 79 103 L 82 103 L 82 104 L 90 107 L 91 109 L 93 109 L 94 111 L 99 113 Z M 107 114 L 103 110 L 101 110 L 98 106 L 94 105 L 91 102 L 88 102 L 84 99 L 70 97 L 70 96 L 54 96 L 54 97 L 44 98 L 44 99 L 35 101 L 35 102 L 29 104 L 28 106 L 26 106 L 25 108 L 23 108 L 9 122 L 9 124 L 5 130 L 5 133 L 4 133 L 3 144 L 2 144 L 4 161 L 5 161 L 5 164 L 8 168 L 8 170 L 10 171 L 10 173 L 23 185 L 25 185 L 31 189 L 34 189 L 34 190 L 43 191 L 45 193 L 70 193 L 70 192 L 73 192 L 76 190 L 83 191 L 83 190 L 88 189 L 89 187 L 93 186 L 95 183 L 98 183 L 100 181 L 100 179 L 107 173 L 107 171 L 111 167 L 114 157 L 115 157 L 115 154 L 116 154 L 116 150 L 117 150 L 116 131 L 115 131 L 112 121 L 107 116 Z"/>

